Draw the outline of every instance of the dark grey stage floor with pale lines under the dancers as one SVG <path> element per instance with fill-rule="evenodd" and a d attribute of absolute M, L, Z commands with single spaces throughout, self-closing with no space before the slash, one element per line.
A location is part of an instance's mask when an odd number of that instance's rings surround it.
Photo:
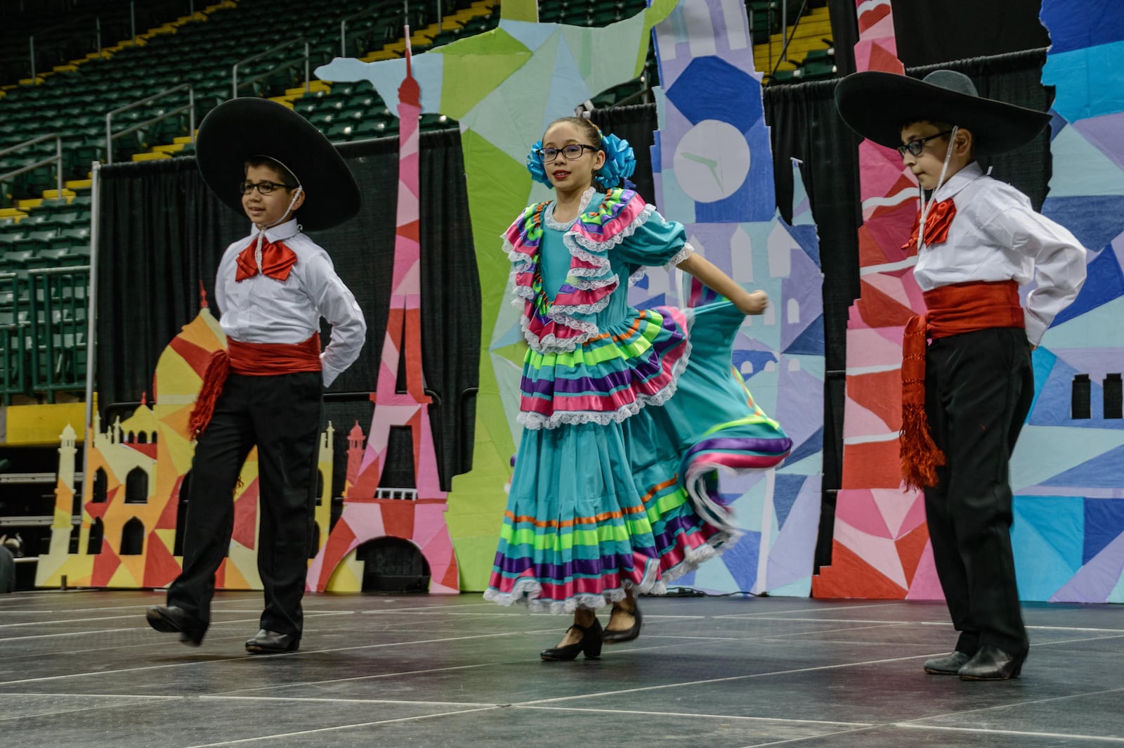
<path fill-rule="evenodd" d="M 1023 677 L 964 683 L 922 670 L 936 603 L 643 598 L 636 641 L 543 663 L 565 620 L 475 594 L 310 595 L 300 651 L 255 657 L 259 593 L 220 593 L 198 649 L 145 624 L 162 601 L 0 595 L 0 745 L 1124 744 L 1121 606 L 1028 604 Z"/>

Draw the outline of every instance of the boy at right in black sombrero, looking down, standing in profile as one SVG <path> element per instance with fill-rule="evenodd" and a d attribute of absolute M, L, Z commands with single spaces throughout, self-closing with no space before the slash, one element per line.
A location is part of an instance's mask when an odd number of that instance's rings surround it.
<path fill-rule="evenodd" d="M 1016 677 L 1030 642 L 1010 548 L 1008 461 L 1034 397 L 1031 351 L 1085 281 L 1085 249 L 991 179 L 977 156 L 1033 139 L 1050 116 L 985 99 L 961 73 L 843 79 L 835 102 L 860 135 L 897 148 L 921 186 L 914 278 L 926 314 L 906 325 L 901 470 L 924 488 L 955 651 L 925 672 Z M 1018 287 L 1037 281 L 1019 305 Z M 928 343 L 926 344 L 926 341 Z"/>

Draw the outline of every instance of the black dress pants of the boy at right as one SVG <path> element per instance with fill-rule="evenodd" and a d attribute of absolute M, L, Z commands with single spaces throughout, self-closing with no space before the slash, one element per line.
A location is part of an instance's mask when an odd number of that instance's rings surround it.
<path fill-rule="evenodd" d="M 925 354 L 925 411 L 948 463 L 925 490 L 933 558 L 960 632 L 957 649 L 1030 646 L 1010 548 L 1009 460 L 1034 398 L 1026 333 L 992 327 L 941 337 Z"/>

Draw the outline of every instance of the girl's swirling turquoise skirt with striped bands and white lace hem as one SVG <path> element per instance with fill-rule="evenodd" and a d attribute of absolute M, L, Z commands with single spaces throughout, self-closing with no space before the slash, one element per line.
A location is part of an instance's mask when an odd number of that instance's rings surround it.
<path fill-rule="evenodd" d="M 742 314 L 687 314 L 689 362 L 663 405 L 524 430 L 487 600 L 568 613 L 659 594 L 736 540 L 716 470 L 774 467 L 792 443 L 731 367 Z"/>

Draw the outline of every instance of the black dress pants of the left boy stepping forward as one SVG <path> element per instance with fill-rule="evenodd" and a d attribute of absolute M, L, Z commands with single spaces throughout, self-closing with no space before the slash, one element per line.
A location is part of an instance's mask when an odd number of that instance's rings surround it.
<path fill-rule="evenodd" d="M 318 371 L 227 378 L 215 415 L 196 444 L 183 573 L 167 591 L 169 605 L 210 623 L 215 573 L 234 530 L 234 489 L 256 444 L 257 570 L 265 588 L 261 628 L 300 637 L 316 506 L 321 381 Z"/>

